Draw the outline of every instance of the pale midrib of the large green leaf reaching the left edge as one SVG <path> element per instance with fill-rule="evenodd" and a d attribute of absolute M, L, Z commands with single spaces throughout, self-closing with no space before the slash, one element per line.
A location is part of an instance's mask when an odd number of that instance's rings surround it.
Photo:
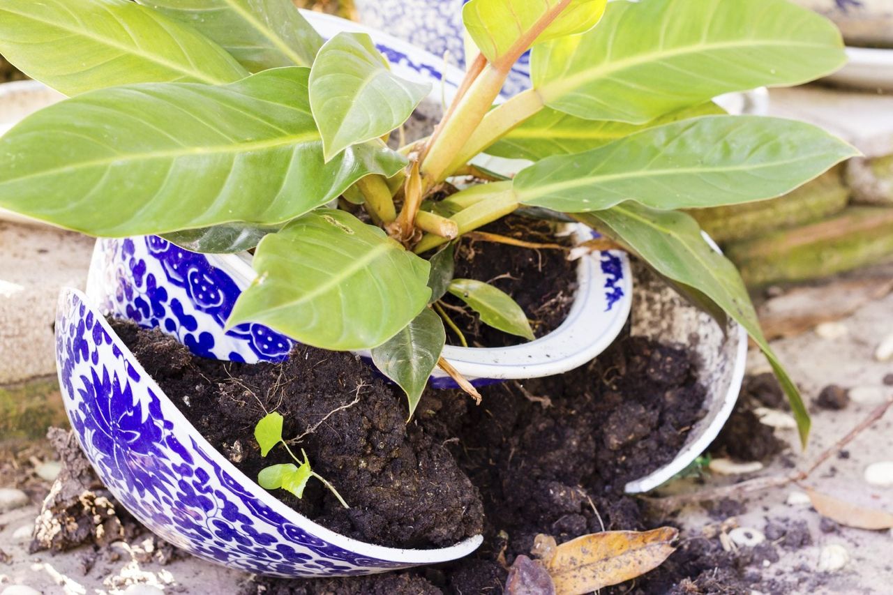
<path fill-rule="evenodd" d="M 297 145 L 305 142 L 320 140 L 318 132 L 302 132 L 300 134 L 289 135 L 288 137 L 268 139 L 263 141 L 255 141 L 248 143 L 239 143 L 237 145 L 220 145 L 211 147 L 183 147 L 179 149 L 168 149 L 164 151 L 150 151 L 146 153 L 133 153 L 130 155 L 114 155 L 103 159 L 94 159 L 81 163 L 73 163 L 65 167 L 43 170 L 40 172 L 29 173 L 17 178 L 9 178 L 0 180 L 0 186 L 4 184 L 12 184 L 24 180 L 33 180 L 36 178 L 52 177 L 61 173 L 79 172 L 95 167 L 103 167 L 115 165 L 118 163 L 129 163 L 133 161 L 154 160 L 154 159 L 174 159 L 177 157 L 202 156 L 202 155 L 227 155 L 249 153 L 251 151 L 261 151 L 279 147 L 287 147 L 288 145 Z"/>

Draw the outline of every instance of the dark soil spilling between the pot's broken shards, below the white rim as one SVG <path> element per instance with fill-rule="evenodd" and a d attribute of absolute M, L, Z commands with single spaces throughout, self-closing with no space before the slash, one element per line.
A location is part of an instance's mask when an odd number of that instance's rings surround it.
<path fill-rule="evenodd" d="M 472 557 L 453 564 L 350 579 L 257 578 L 246 593 L 502 592 L 507 567 L 530 555 L 538 533 L 560 543 L 603 527 L 666 524 L 623 486 L 669 461 L 702 415 L 704 390 L 687 352 L 645 339 L 620 339 L 562 376 L 486 387 L 481 406 L 459 391 L 430 390 L 406 425 L 404 398 L 354 356 L 297 348 L 285 365 L 223 364 L 190 356 L 156 331 L 115 326 L 199 431 L 249 476 L 288 461 L 280 448 L 259 457 L 253 428 L 265 410 L 285 415 L 287 437 L 319 424 L 300 446 L 354 508 L 314 482 L 301 501 L 276 492 L 317 522 L 387 545 L 485 536 Z M 430 485 L 437 490 L 423 487 Z M 710 548 L 686 542 L 634 585 L 603 592 L 672 592 L 683 580 L 746 592 L 737 563 Z"/>

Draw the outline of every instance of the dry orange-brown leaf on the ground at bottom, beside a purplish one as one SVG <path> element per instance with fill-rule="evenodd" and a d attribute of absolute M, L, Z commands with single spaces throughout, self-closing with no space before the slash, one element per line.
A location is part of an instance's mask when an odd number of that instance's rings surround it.
<path fill-rule="evenodd" d="M 679 531 L 608 531 L 561 544 L 546 561 L 557 595 L 583 595 L 629 581 L 663 564 Z"/>

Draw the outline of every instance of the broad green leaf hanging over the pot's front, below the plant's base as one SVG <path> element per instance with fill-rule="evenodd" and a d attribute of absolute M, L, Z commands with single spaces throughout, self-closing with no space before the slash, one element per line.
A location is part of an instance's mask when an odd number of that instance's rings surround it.
<path fill-rule="evenodd" d="M 335 351 L 380 346 L 431 295 L 427 261 L 344 211 L 319 209 L 267 236 L 254 266 L 229 326 L 263 323 Z"/>

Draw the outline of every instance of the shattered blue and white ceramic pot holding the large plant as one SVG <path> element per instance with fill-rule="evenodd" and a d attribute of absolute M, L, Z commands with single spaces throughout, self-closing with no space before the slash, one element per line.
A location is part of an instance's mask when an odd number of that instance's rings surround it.
<path fill-rule="evenodd" d="M 398 73 L 442 79 L 447 96 L 462 77 L 460 71 L 445 70 L 433 55 L 388 36 L 317 13 L 307 16 L 326 37 L 345 29 L 371 32 Z M 555 337 L 508 350 L 450 348 L 446 353 L 478 381 L 560 373 L 607 347 L 635 301 L 634 333 L 689 343 L 702 362 L 698 373 L 707 395 L 705 419 L 689 433 L 680 456 L 630 482 L 630 491 L 666 481 L 719 432 L 738 396 L 747 348 L 739 327 L 720 329 L 661 289 L 647 270 L 637 275 L 644 283 L 637 283 L 634 298 L 626 256 L 583 258 L 577 300 Z M 253 276 L 246 255 L 196 255 L 154 237 L 113 239 L 97 242 L 89 297 L 63 291 L 56 346 L 64 404 L 81 447 L 115 497 L 163 539 L 198 557 L 260 574 L 371 574 L 437 564 L 476 549 L 480 536 L 446 549 L 384 548 L 348 539 L 299 515 L 204 440 L 104 319 L 113 314 L 158 327 L 202 356 L 280 361 L 293 345 L 288 337 L 256 324 L 222 331 Z M 531 346 L 539 351 L 525 351 Z M 443 379 L 433 382 L 443 384 Z"/>

